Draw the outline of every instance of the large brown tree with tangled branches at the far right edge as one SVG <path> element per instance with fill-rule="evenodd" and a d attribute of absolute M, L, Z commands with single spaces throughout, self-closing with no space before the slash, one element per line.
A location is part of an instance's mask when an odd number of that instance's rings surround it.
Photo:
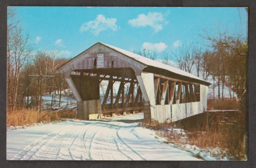
<path fill-rule="evenodd" d="M 215 63 L 217 66 L 212 69 L 218 75 L 218 92 L 220 98 L 220 81 L 223 88 L 226 84 L 236 93 L 240 100 L 247 85 L 247 36 L 243 34 L 228 34 L 227 29 L 218 30 L 217 35 L 210 35 L 207 31 L 200 35 L 210 42 L 215 52 Z"/>

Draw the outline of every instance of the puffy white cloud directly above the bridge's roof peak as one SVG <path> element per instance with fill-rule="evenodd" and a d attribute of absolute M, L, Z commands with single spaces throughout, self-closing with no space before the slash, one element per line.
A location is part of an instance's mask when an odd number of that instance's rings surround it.
<path fill-rule="evenodd" d="M 101 31 L 110 28 L 113 31 L 117 30 L 116 18 L 105 18 L 104 15 L 98 15 L 95 20 L 84 23 L 80 27 L 80 31 L 84 32 L 89 30 L 94 35 L 99 35 Z"/>

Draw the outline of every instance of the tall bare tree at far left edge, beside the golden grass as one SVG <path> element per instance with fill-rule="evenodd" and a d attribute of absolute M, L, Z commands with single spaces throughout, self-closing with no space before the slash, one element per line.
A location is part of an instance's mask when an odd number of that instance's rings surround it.
<path fill-rule="evenodd" d="M 30 56 L 32 48 L 29 44 L 29 36 L 24 35 L 20 20 L 16 19 L 17 12 L 8 9 L 7 19 L 7 91 L 8 104 L 14 109 L 20 86 L 20 71 L 27 57 Z"/>

